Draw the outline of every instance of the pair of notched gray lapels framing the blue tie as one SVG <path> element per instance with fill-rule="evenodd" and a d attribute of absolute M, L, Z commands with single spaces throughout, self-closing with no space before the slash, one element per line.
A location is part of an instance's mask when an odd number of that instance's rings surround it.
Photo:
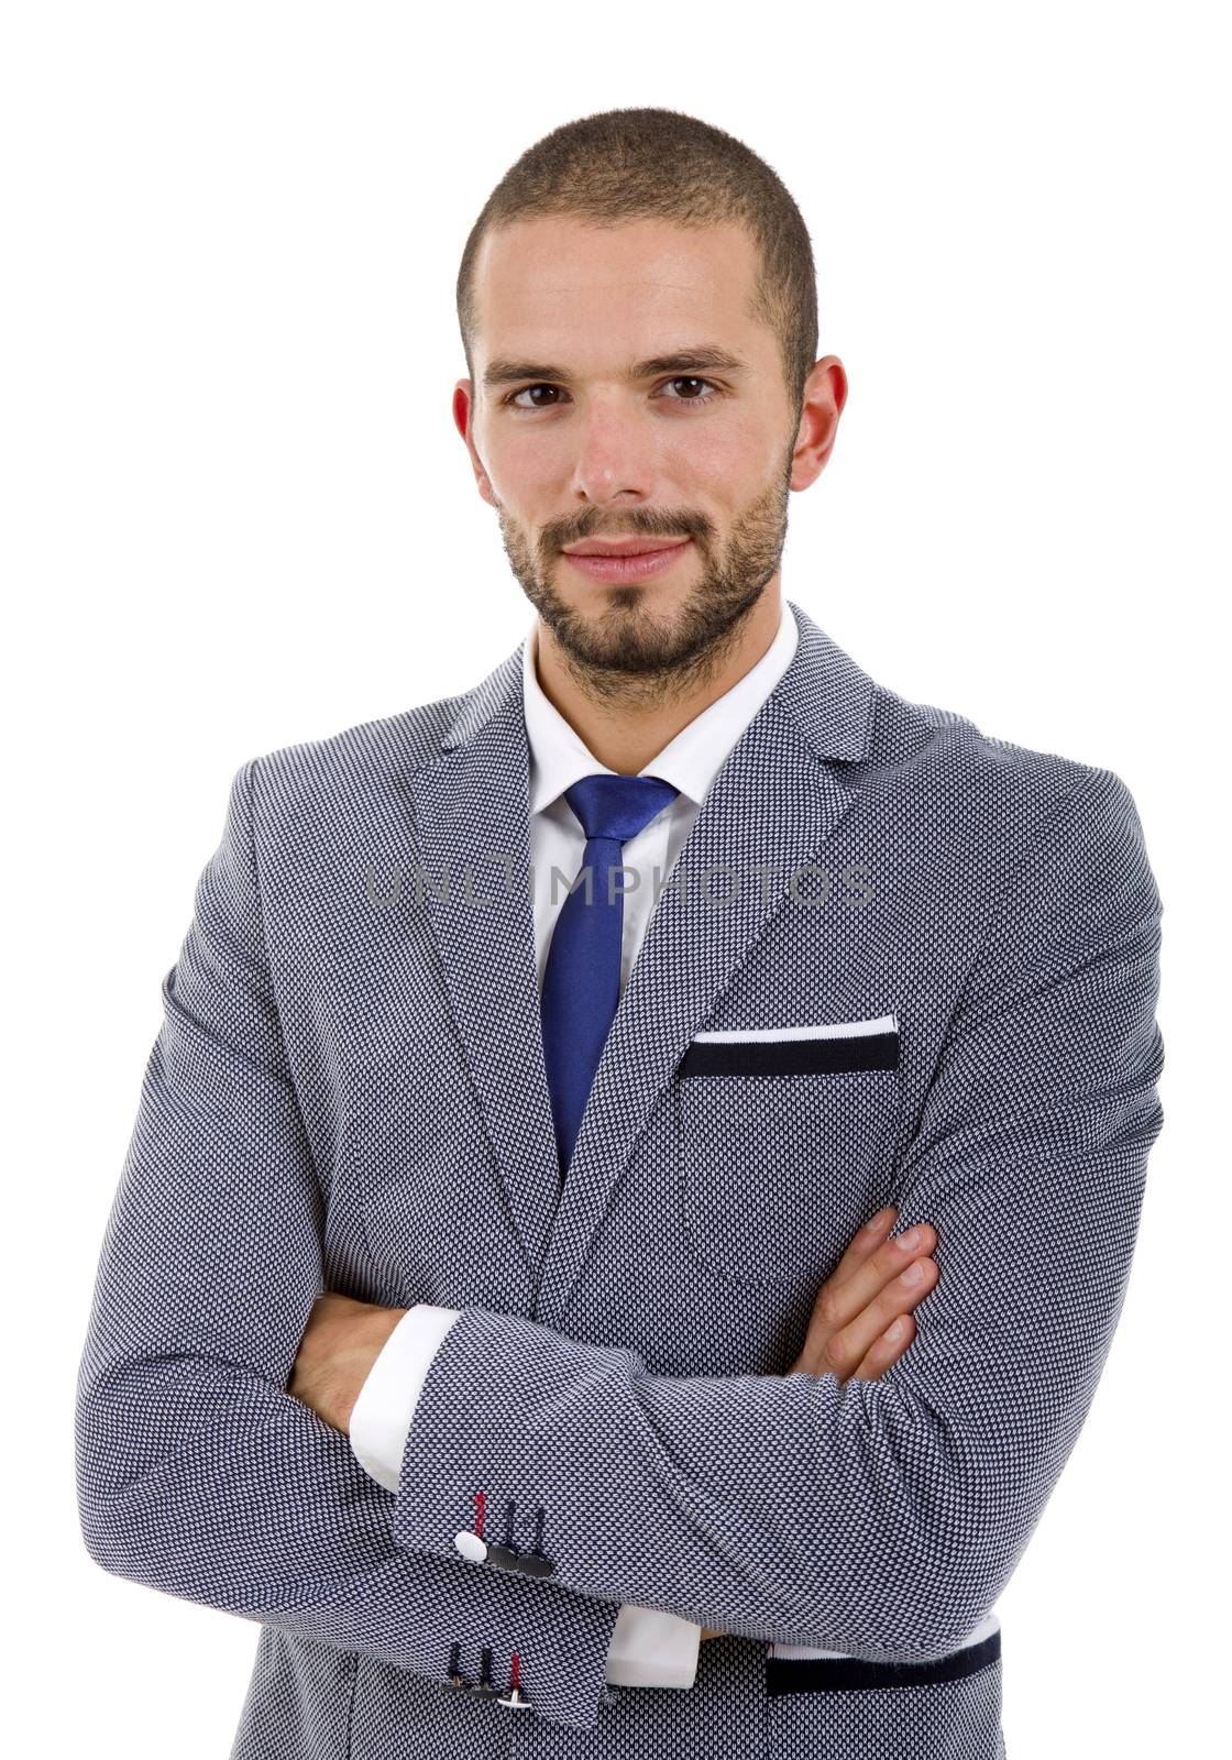
<path fill-rule="evenodd" d="M 542 1267 L 537 1318 L 547 1325 L 563 1322 L 611 1192 L 676 1063 L 790 898 L 794 871 L 818 857 L 855 796 L 843 766 L 868 753 L 876 686 L 790 600 L 787 612 L 799 625 L 796 655 L 715 776 L 669 876 L 678 887 L 655 905 L 563 1190 L 524 884 L 521 648 L 468 693 L 442 759 L 405 781 L 417 862 L 451 882 L 449 899 L 426 887 L 426 908 L 510 1213 L 530 1264 Z"/>

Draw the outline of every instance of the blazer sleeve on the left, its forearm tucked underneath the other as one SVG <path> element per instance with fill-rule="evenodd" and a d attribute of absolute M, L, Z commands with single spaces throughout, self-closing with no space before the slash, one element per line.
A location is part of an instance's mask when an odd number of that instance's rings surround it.
<path fill-rule="evenodd" d="M 285 1389 L 324 1290 L 322 1193 L 275 1005 L 253 771 L 162 986 L 77 1371 L 86 1551 L 107 1572 L 590 1728 L 618 1603 L 484 1577 L 392 1533 L 392 1494 Z M 493 1705 L 493 1716 L 505 1716 Z"/>

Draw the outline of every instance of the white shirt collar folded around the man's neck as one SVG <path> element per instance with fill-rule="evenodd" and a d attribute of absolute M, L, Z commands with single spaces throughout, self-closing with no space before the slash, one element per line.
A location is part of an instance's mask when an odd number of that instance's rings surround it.
<path fill-rule="evenodd" d="M 708 704 L 671 739 L 639 776 L 655 774 L 699 806 L 723 759 L 769 697 L 792 662 L 799 628 L 787 600 L 774 641 L 762 658 Z M 539 616 L 523 642 L 523 709 L 530 743 L 530 810 L 540 813 L 583 776 L 616 774 L 590 752 L 560 709 L 549 702 L 535 674 Z"/>

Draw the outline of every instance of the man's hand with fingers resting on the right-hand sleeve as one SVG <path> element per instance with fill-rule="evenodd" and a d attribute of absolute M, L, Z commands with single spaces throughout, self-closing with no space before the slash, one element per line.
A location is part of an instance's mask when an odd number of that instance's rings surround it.
<path fill-rule="evenodd" d="M 936 1248 L 936 1230 L 920 1223 L 919 1241 L 903 1248 L 887 1241 L 898 1220 L 896 1209 L 878 1211 L 861 1228 L 825 1280 L 813 1302 L 804 1350 L 792 1368 L 808 1375 L 836 1375 L 840 1387 L 848 1380 L 875 1382 L 903 1355 L 915 1338 L 910 1309 L 935 1288 L 940 1271 L 929 1257 Z M 919 1283 L 903 1283 L 908 1265 L 920 1265 Z M 702 1639 L 722 1639 L 722 1632 L 702 1630 Z"/>

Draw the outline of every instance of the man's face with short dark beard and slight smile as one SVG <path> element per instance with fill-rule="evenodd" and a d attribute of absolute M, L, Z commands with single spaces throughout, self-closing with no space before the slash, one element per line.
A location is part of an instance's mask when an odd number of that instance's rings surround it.
<path fill-rule="evenodd" d="M 595 683 L 695 683 L 778 581 L 799 412 L 773 331 L 744 312 L 755 266 L 743 227 L 656 220 L 519 222 L 480 250 L 475 405 L 459 380 L 454 421 L 514 576 Z M 628 377 L 702 347 L 732 364 Z M 604 581 L 565 554 L 590 539 L 688 542 Z"/>

